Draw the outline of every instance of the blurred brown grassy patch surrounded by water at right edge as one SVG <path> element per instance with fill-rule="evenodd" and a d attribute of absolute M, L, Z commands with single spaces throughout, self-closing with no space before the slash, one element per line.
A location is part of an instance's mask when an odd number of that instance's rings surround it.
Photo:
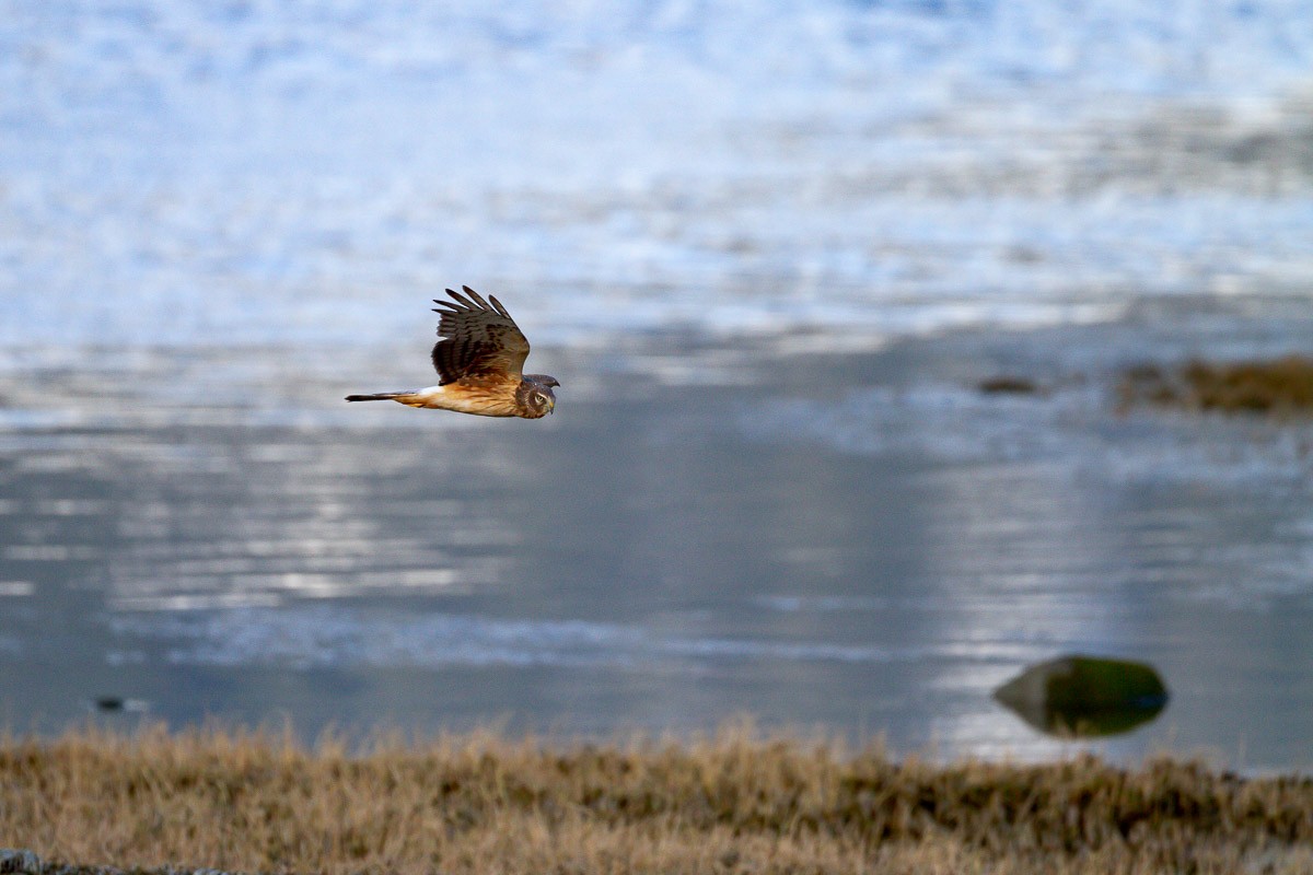
<path fill-rule="evenodd" d="M 1117 388 L 1123 409 L 1137 404 L 1221 413 L 1313 413 L 1313 358 L 1191 361 L 1178 369 L 1128 369 Z"/>

